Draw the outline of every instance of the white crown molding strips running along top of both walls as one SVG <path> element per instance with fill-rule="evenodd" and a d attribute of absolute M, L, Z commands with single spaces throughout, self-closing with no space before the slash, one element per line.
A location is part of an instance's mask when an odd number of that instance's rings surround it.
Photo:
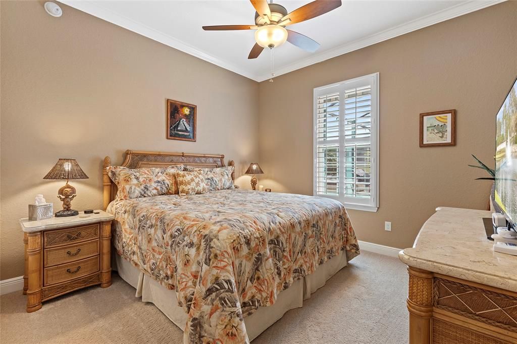
<path fill-rule="evenodd" d="M 390 29 L 384 30 L 377 34 L 371 35 L 366 38 L 359 39 L 352 43 L 347 43 L 337 48 L 327 50 L 321 52 L 319 54 L 313 54 L 308 58 L 302 59 L 300 61 L 294 62 L 293 64 L 289 64 L 286 66 L 282 66 L 275 70 L 276 76 L 286 74 L 292 71 L 295 71 L 300 68 L 304 68 L 313 64 L 317 64 L 318 62 L 322 62 L 328 60 L 330 58 L 343 55 L 361 48 L 365 48 L 366 46 L 379 43 L 397 36 L 401 36 L 407 34 L 409 32 L 424 28 L 426 26 L 434 25 L 455 17 L 460 17 L 460 15 L 464 15 L 470 12 L 474 12 L 489 6 L 493 6 L 507 0 L 471 0 L 466 3 L 458 4 L 456 6 L 447 8 L 442 11 L 438 11 L 436 13 L 425 15 L 424 17 L 420 17 L 416 20 L 410 21 L 408 23 L 392 27 Z M 106 9 L 102 6 L 99 6 L 98 3 L 92 3 L 87 1 L 77 1 L 77 0 L 59 0 L 60 3 L 70 6 L 72 8 L 78 9 L 80 11 L 86 12 L 88 14 L 93 15 L 94 17 L 100 18 L 112 24 L 118 25 L 120 27 L 124 27 L 134 33 L 140 34 L 157 42 L 163 43 L 165 45 L 170 46 L 171 48 L 183 51 L 189 55 L 195 56 L 211 64 L 219 66 L 221 68 L 230 70 L 234 73 L 240 74 L 242 76 L 248 77 L 257 82 L 262 82 L 270 79 L 270 74 L 262 74 L 256 75 L 254 73 L 250 73 L 240 67 L 235 66 L 231 62 L 221 60 L 211 54 L 208 54 L 200 49 L 195 48 L 194 46 L 166 35 L 158 30 L 155 30 L 151 27 L 148 27 L 142 23 L 136 22 L 132 19 L 124 17 L 123 15 L 117 14 L 109 9 Z"/>

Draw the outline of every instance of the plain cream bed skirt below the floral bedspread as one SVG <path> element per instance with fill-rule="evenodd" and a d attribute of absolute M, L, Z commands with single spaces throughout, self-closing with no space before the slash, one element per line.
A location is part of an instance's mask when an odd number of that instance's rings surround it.
<path fill-rule="evenodd" d="M 181 331 L 185 329 L 187 314 L 178 306 L 176 292 L 161 286 L 156 280 L 140 272 L 133 265 L 115 254 L 118 275 L 136 289 L 135 296 L 142 297 L 142 302 L 152 302 L 163 314 L 176 324 Z M 290 309 L 303 306 L 303 300 L 311 297 L 317 289 L 323 287 L 327 280 L 346 266 L 344 251 L 336 257 L 320 265 L 316 271 L 305 278 L 296 280 L 291 287 L 282 291 L 274 305 L 260 307 L 252 315 L 244 319 L 249 340 L 255 339 L 269 326 Z"/>

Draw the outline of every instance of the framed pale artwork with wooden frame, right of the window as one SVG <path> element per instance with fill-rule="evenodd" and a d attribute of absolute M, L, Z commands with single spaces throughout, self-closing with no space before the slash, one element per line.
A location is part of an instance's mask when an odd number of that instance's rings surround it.
<path fill-rule="evenodd" d="M 456 110 L 420 114 L 420 147 L 455 146 Z"/>

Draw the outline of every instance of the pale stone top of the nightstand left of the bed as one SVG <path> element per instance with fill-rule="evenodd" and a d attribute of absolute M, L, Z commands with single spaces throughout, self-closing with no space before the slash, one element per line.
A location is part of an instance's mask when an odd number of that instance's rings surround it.
<path fill-rule="evenodd" d="M 88 225 L 97 222 L 110 221 L 115 217 L 102 210 L 95 210 L 99 214 L 85 214 L 83 211 L 79 215 L 68 217 L 51 217 L 40 221 L 29 221 L 27 217 L 20 220 L 20 225 L 24 232 L 39 232 L 40 230 L 67 228 L 72 226 Z"/>

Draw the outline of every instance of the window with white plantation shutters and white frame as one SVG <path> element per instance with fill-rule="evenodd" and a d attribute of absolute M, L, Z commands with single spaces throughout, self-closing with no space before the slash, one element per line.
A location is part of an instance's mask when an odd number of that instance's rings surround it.
<path fill-rule="evenodd" d="M 314 89 L 314 195 L 349 209 L 378 208 L 378 80 Z"/>

